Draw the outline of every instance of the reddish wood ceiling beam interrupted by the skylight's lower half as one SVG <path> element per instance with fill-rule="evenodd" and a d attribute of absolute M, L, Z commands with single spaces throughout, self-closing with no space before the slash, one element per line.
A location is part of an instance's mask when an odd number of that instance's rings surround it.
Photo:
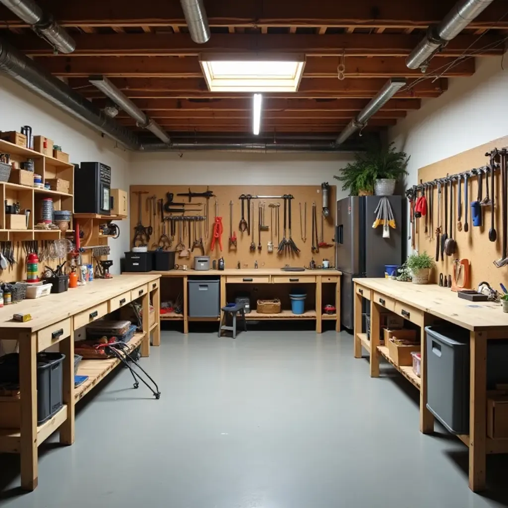
<path fill-rule="evenodd" d="M 169 97 L 217 97 L 217 93 L 208 92 L 204 79 L 173 79 L 173 78 L 112 78 L 112 82 L 129 97 L 136 97 L 134 92 L 141 92 L 141 97 L 153 97 L 154 94 L 168 94 Z M 300 84 L 298 97 L 354 97 L 371 98 L 386 83 L 385 79 L 304 79 Z M 88 97 L 96 97 L 96 88 L 90 86 L 87 78 L 70 78 L 69 85 L 78 88 Z M 411 89 L 403 89 L 397 97 L 439 97 L 448 88 L 446 78 L 422 81 Z M 236 93 L 234 94 L 236 95 Z M 288 93 L 295 97 L 295 94 Z M 227 96 L 220 92 L 219 97 Z M 266 93 L 267 97 L 284 96 L 284 93 Z M 139 97 L 139 95 L 137 95 Z"/>

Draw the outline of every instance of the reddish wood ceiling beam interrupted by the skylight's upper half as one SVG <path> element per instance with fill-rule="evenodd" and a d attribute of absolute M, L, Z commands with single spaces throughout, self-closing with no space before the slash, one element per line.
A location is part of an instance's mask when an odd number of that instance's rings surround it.
<path fill-rule="evenodd" d="M 203 72 L 196 57 L 175 56 L 77 56 L 73 58 L 35 57 L 47 71 L 59 77 L 86 77 L 105 74 L 109 77 L 171 77 L 200 78 Z M 426 75 L 448 65 L 454 58 L 435 58 L 430 62 Z M 408 69 L 403 58 L 396 57 L 347 57 L 345 76 L 348 78 L 389 78 L 392 76 L 419 78 L 419 69 Z M 474 74 L 474 58 L 459 62 L 443 77 L 471 76 Z M 336 57 L 307 58 L 304 78 L 337 78 Z"/>

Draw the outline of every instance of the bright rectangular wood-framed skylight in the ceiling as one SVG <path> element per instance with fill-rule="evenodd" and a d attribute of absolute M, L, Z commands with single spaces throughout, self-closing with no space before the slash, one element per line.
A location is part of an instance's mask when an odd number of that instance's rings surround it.
<path fill-rule="evenodd" d="M 270 53 L 202 53 L 199 62 L 212 92 L 296 92 L 305 56 Z"/>

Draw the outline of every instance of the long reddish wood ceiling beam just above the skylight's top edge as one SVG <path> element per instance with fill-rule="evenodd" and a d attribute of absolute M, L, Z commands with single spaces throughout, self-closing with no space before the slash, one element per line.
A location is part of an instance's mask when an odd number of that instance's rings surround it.
<path fill-rule="evenodd" d="M 206 44 L 195 44 L 187 34 L 95 34 L 76 35 L 73 56 L 150 56 L 198 55 L 203 51 L 215 52 L 302 52 L 308 56 L 407 56 L 420 42 L 414 35 L 392 34 L 214 34 Z M 462 56 L 479 50 L 478 55 L 501 54 L 502 45 L 483 49 L 487 44 L 499 42 L 498 37 L 487 34 L 480 41 L 475 36 L 459 35 L 438 53 L 439 56 Z M 9 40 L 29 55 L 53 55 L 52 48 L 35 34 Z M 60 57 L 60 56 L 59 56 Z"/>

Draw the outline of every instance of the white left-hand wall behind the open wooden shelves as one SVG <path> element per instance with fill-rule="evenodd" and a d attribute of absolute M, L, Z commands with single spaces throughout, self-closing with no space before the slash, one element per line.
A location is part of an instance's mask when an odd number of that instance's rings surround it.
<path fill-rule="evenodd" d="M 0 130 L 18 131 L 21 125 L 31 125 L 35 135 L 43 135 L 61 145 L 73 163 L 100 161 L 112 169 L 114 188 L 129 189 L 130 152 L 108 138 L 103 138 L 84 123 L 41 99 L 17 82 L 0 76 Z M 109 241 L 114 265 L 112 273 L 120 273 L 119 259 L 129 249 L 129 221 L 117 223 L 120 238 Z"/>

